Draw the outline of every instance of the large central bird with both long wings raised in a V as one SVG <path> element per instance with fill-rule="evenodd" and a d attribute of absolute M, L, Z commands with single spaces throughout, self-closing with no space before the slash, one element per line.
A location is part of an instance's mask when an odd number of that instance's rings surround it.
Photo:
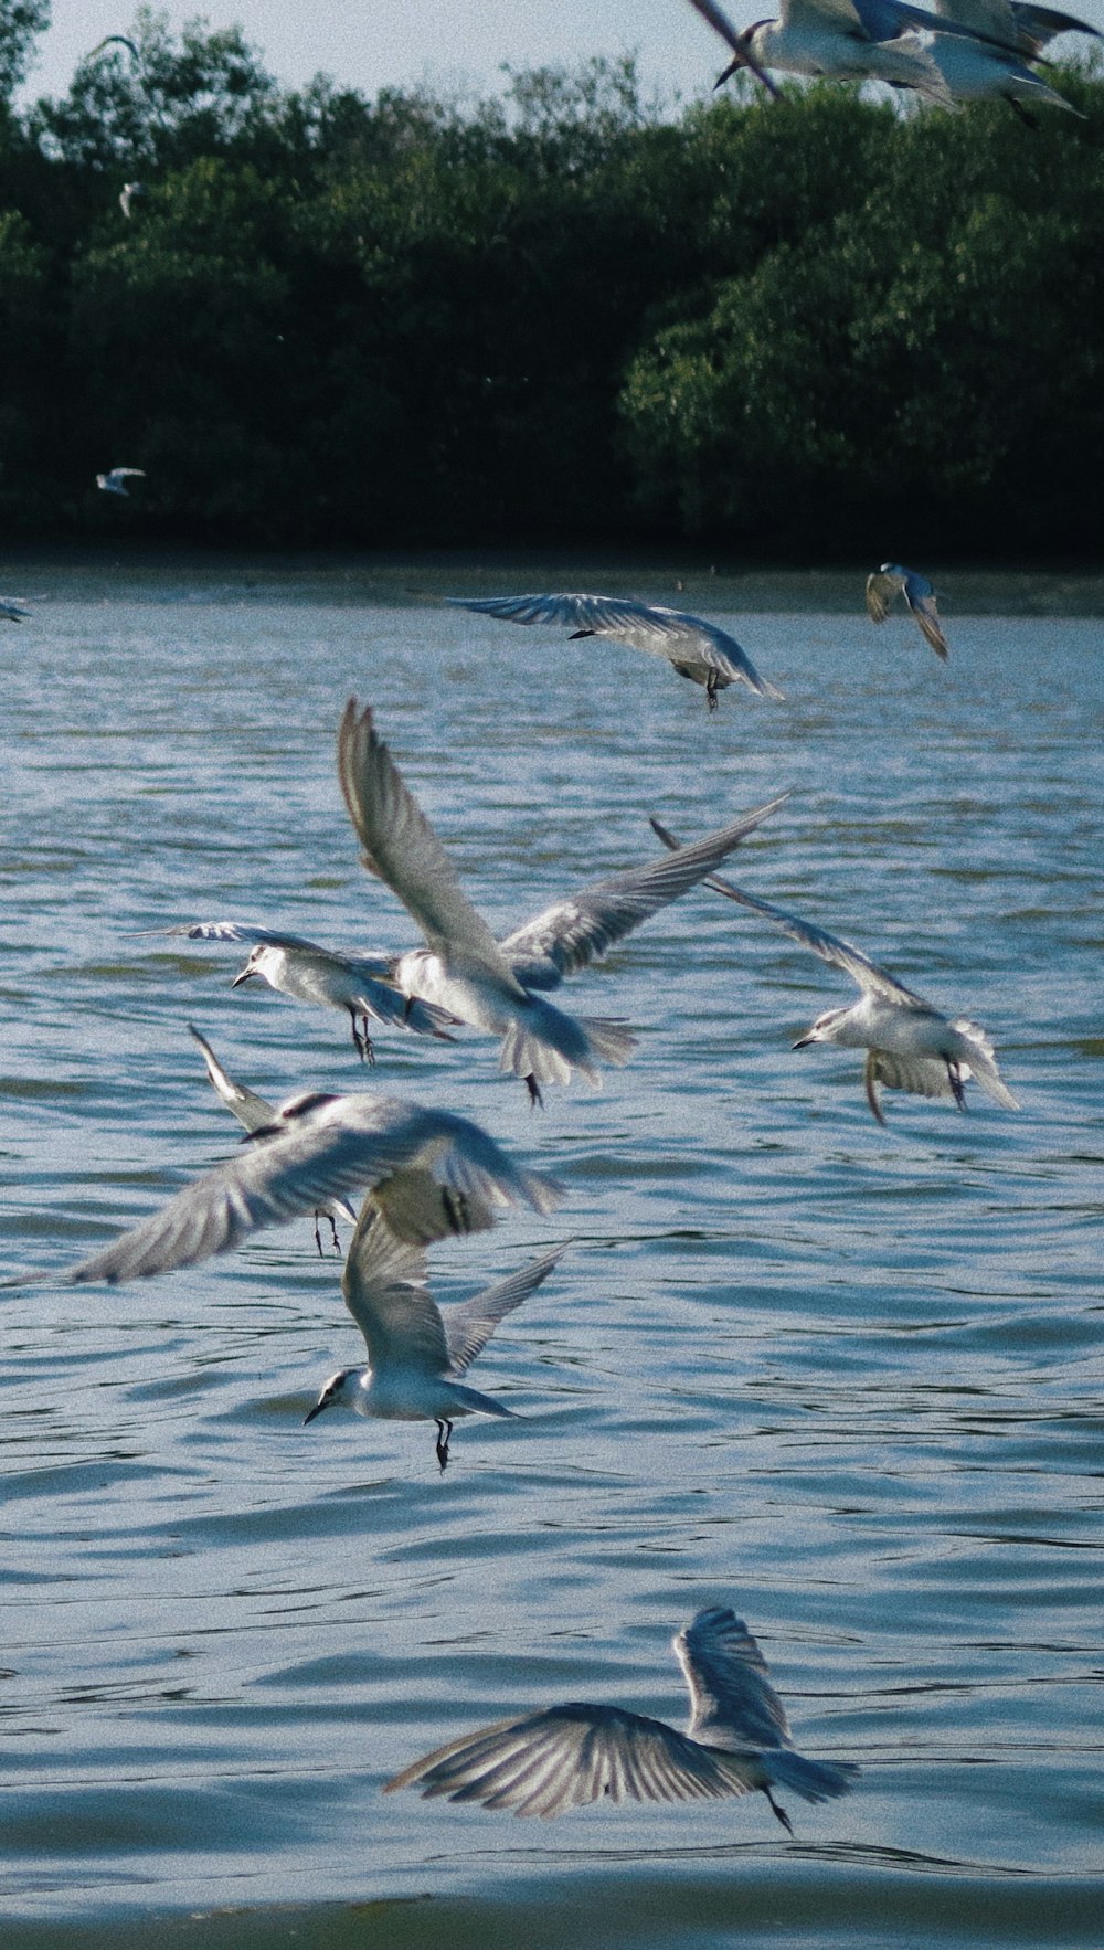
<path fill-rule="evenodd" d="M 566 975 L 605 956 L 612 942 L 687 893 L 782 805 L 770 800 L 698 840 L 683 852 L 675 872 L 659 858 L 599 879 L 495 942 L 376 735 L 371 710 L 361 710 L 355 698 L 337 733 L 337 774 L 365 866 L 392 889 L 427 940 L 427 948 L 394 961 L 390 979 L 404 994 L 499 1035 L 499 1069 L 521 1076 L 534 1104 L 542 1102 L 540 1084 L 568 1082 L 572 1071 L 597 1084 L 599 1059 L 628 1063 L 636 1047 L 622 1022 L 566 1016 L 540 991 L 556 989 Z"/>

